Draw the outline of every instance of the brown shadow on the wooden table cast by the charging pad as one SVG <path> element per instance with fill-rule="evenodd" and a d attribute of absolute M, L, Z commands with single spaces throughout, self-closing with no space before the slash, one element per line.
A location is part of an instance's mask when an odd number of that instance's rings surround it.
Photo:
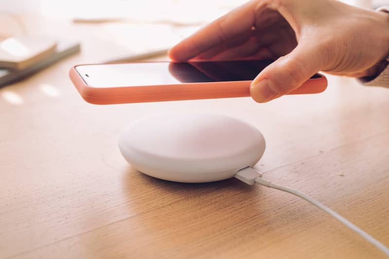
<path fill-rule="evenodd" d="M 235 178 L 211 183 L 177 183 L 150 177 L 129 169 L 123 188 L 128 210 L 136 222 L 149 228 L 188 227 L 207 233 L 241 225 L 248 233 L 270 231 L 289 221 L 305 221 L 312 210 L 291 204 L 290 194 L 258 185 L 249 186 Z M 297 198 L 296 198 L 297 199 Z M 163 221 L 161 221 L 163 219 Z M 247 224 L 242 225 L 242 222 Z"/>

